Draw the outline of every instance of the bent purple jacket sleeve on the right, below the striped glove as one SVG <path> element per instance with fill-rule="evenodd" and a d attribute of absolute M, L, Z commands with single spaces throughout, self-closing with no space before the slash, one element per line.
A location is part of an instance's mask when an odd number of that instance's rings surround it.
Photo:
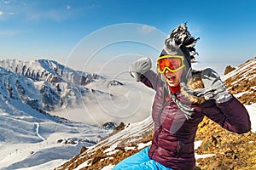
<path fill-rule="evenodd" d="M 215 103 L 214 106 L 203 108 L 203 112 L 213 122 L 231 132 L 241 134 L 251 130 L 249 114 L 235 97 L 224 103 Z"/>

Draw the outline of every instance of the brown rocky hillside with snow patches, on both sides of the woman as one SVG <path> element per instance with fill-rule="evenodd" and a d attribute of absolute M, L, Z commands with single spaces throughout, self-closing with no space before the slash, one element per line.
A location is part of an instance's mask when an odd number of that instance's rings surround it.
<path fill-rule="evenodd" d="M 236 67 L 223 77 L 230 93 L 234 94 L 251 116 L 255 118 L 255 79 L 256 58 Z M 146 128 L 147 127 L 147 128 Z M 123 126 L 117 133 L 103 139 L 100 143 L 81 150 L 78 156 L 55 169 L 112 169 L 127 156 L 150 145 L 152 121 L 148 117 L 144 122 Z M 123 130 L 122 130 L 123 129 Z M 256 136 L 255 124 L 250 133 L 238 135 L 219 127 L 216 123 L 204 119 L 196 134 L 195 157 L 197 169 L 255 169 Z"/>

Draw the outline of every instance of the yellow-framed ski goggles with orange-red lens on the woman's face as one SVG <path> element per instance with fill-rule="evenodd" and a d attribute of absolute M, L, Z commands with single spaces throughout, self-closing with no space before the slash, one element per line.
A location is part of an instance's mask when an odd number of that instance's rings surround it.
<path fill-rule="evenodd" d="M 165 73 L 166 70 L 175 72 L 181 70 L 184 65 L 184 57 L 180 55 L 165 55 L 157 59 L 157 71 Z"/>

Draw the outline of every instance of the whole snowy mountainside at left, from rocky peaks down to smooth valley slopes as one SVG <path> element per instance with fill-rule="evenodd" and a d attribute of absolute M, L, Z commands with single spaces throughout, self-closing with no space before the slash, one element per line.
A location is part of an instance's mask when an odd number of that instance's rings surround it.
<path fill-rule="evenodd" d="M 112 132 L 53 113 L 84 105 L 84 99 L 112 96 L 86 88 L 89 83 L 102 81 L 114 88 L 121 82 L 47 59 L 0 60 L 0 77 L 0 169 L 49 169 Z"/>

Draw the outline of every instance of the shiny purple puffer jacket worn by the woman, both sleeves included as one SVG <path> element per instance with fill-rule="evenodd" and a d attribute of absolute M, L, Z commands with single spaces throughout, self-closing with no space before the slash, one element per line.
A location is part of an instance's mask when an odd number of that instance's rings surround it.
<path fill-rule="evenodd" d="M 192 119 L 187 120 L 172 99 L 166 101 L 164 82 L 158 74 L 148 71 L 142 76 L 141 82 L 156 91 L 152 107 L 154 137 L 148 156 L 166 167 L 186 170 L 195 168 L 195 133 L 204 116 L 235 133 L 251 130 L 247 110 L 236 98 L 222 104 L 210 99 L 201 105 L 191 105 L 178 92 L 177 99 L 195 109 Z"/>

